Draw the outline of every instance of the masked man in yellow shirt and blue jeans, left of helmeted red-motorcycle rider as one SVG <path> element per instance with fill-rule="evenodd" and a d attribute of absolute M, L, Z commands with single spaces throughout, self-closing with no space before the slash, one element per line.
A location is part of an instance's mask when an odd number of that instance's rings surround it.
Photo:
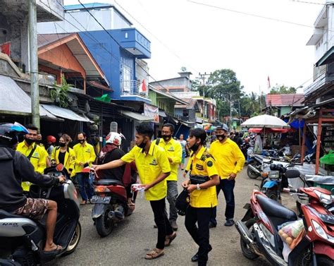
<path fill-rule="evenodd" d="M 80 205 L 85 205 L 90 202 L 94 195 L 93 182 L 89 179 L 89 173 L 82 173 L 82 169 L 92 166 L 97 155 L 95 155 L 94 147 L 87 143 L 85 133 L 78 134 L 78 144 L 74 145 L 75 153 L 75 174 L 78 179 L 80 195 L 82 202 Z"/>

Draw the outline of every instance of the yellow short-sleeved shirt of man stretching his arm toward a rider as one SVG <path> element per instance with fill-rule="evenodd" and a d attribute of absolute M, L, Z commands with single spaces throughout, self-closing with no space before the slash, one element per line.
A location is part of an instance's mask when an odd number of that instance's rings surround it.
<path fill-rule="evenodd" d="M 140 181 L 146 185 L 153 182 L 162 173 L 171 171 L 166 152 L 162 147 L 151 144 L 149 153 L 143 152 L 142 148 L 132 147 L 132 150 L 120 158 L 123 162 L 135 161 Z M 145 191 L 145 198 L 147 200 L 161 200 L 166 198 L 167 182 L 166 179 L 157 183 L 155 186 Z"/>

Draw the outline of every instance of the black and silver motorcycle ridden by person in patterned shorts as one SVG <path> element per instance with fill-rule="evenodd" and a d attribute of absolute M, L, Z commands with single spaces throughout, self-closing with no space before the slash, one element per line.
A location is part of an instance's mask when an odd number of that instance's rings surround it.
<path fill-rule="evenodd" d="M 63 175 L 63 165 L 45 169 L 51 176 Z M 9 257 L 0 260 L 0 265 L 39 265 L 54 260 L 61 255 L 75 251 L 81 236 L 79 222 L 79 200 L 71 181 L 51 188 L 30 186 L 31 198 L 54 200 L 58 204 L 58 215 L 54 230 L 54 242 L 61 245 L 59 253 L 43 251 L 46 241 L 45 217 L 39 222 L 17 214 L 0 210 L 0 249 Z"/>

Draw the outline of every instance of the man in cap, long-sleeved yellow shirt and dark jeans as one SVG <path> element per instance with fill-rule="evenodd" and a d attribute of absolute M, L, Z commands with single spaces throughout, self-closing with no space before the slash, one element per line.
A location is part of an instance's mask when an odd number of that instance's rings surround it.
<path fill-rule="evenodd" d="M 225 209 L 225 226 L 233 226 L 235 200 L 233 189 L 235 186 L 235 177 L 242 170 L 245 164 L 245 156 L 242 154 L 237 143 L 228 138 L 228 126 L 217 126 L 217 140 L 211 143 L 210 153 L 216 159 L 216 167 L 218 169 L 221 182 L 216 186 L 217 197 L 222 190 L 226 200 Z M 210 227 L 216 227 L 216 208 L 210 219 Z"/>

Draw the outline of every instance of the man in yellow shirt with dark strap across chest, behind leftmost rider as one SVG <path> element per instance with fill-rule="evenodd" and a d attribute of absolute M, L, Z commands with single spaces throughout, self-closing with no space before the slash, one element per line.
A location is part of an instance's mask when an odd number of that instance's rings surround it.
<path fill-rule="evenodd" d="M 27 157 L 32 165 L 34 170 L 40 174 L 44 174 L 44 169 L 47 168 L 47 152 L 44 147 L 41 147 L 35 143 L 37 140 L 37 131 L 38 128 L 32 124 L 27 125 L 28 134 L 25 134 L 25 140 L 22 143 L 18 143 L 16 150 L 21 152 L 25 157 Z M 29 191 L 31 183 L 25 181 L 22 183 L 23 191 Z"/>

